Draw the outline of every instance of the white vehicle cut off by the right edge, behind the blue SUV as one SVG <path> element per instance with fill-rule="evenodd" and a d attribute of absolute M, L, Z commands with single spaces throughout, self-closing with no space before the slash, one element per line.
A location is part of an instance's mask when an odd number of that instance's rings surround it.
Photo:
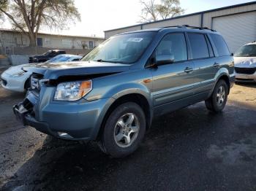
<path fill-rule="evenodd" d="M 236 81 L 256 82 L 256 42 L 242 46 L 234 55 Z"/>

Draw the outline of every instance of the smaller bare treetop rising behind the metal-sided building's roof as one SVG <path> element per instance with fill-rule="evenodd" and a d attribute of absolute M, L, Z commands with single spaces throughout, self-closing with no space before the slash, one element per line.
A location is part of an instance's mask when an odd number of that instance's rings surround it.
<path fill-rule="evenodd" d="M 179 0 L 161 0 L 160 4 L 155 3 L 155 0 L 141 0 L 140 4 L 143 5 L 141 23 L 167 19 L 184 13 Z"/>

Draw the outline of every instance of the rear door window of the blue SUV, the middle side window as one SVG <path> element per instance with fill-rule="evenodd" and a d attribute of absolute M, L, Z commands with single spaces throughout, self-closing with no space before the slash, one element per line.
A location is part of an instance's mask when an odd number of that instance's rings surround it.
<path fill-rule="evenodd" d="M 203 34 L 188 34 L 192 49 L 192 58 L 208 58 L 209 51 L 206 43 L 206 37 Z"/>

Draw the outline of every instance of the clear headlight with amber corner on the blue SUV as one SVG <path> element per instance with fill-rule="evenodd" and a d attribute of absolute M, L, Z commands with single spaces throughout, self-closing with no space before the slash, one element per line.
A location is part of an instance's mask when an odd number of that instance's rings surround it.
<path fill-rule="evenodd" d="M 54 100 L 76 101 L 83 98 L 83 96 L 89 93 L 91 90 L 91 80 L 82 82 L 62 82 L 56 88 Z"/>

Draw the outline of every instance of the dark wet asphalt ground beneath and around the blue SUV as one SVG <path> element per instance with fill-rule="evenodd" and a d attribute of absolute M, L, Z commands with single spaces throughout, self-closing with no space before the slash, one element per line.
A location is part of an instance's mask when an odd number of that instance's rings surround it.
<path fill-rule="evenodd" d="M 222 114 L 202 102 L 154 120 L 124 159 L 23 128 L 23 96 L 0 88 L 0 190 L 256 190 L 256 85 L 235 85 Z"/>

